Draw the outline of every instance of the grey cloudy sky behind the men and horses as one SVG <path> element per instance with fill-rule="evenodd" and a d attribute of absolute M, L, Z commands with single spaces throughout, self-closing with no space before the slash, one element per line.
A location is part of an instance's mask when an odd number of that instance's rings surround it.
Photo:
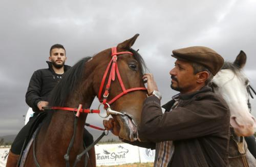
<path fill-rule="evenodd" d="M 207 46 L 233 61 L 247 54 L 244 73 L 256 88 L 256 1 L 0 1 L 0 136 L 16 134 L 24 125 L 25 94 L 32 73 L 47 68 L 49 48 L 67 50 L 67 64 L 116 46 L 136 33 L 140 49 L 155 75 L 163 101 L 169 88 L 172 50 Z M 98 105 L 96 100 L 94 108 Z M 252 100 L 255 114 L 256 102 Z M 97 115 L 89 123 L 102 125 Z"/>

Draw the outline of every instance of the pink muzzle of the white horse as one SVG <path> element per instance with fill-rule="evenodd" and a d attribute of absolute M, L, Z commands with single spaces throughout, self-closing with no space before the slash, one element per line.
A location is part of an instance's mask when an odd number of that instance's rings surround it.
<path fill-rule="evenodd" d="M 251 136 L 256 131 L 256 121 L 253 117 L 240 120 L 234 116 L 230 117 L 230 125 L 238 136 Z"/>

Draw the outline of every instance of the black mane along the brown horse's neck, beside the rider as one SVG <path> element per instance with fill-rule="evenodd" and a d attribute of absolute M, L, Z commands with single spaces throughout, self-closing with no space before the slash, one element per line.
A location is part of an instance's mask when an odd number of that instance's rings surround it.
<path fill-rule="evenodd" d="M 91 59 L 91 57 L 83 58 L 63 74 L 62 79 L 51 92 L 49 100 L 50 106 L 65 105 L 67 98 L 74 92 L 77 85 L 80 84 L 83 78 L 84 68 L 86 68 L 85 63 L 89 59 Z"/>

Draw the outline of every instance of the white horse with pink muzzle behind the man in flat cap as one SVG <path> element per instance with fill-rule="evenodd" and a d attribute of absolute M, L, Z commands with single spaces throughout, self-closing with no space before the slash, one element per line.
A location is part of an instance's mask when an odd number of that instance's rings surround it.
<path fill-rule="evenodd" d="M 212 79 L 210 86 L 221 95 L 230 109 L 231 136 L 229 142 L 229 166 L 256 166 L 256 159 L 247 150 L 243 136 L 253 135 L 255 118 L 250 114 L 251 91 L 249 79 L 241 69 L 246 63 L 246 54 L 240 51 L 234 63 L 225 62 Z M 250 91 L 251 90 L 251 91 Z"/>

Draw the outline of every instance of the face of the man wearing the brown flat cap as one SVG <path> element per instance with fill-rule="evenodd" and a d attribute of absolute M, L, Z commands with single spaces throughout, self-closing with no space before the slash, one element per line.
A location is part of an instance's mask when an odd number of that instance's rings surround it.
<path fill-rule="evenodd" d="M 172 78 L 170 87 L 182 94 L 190 92 L 197 86 L 197 78 L 189 62 L 177 60 L 169 74 Z"/>

